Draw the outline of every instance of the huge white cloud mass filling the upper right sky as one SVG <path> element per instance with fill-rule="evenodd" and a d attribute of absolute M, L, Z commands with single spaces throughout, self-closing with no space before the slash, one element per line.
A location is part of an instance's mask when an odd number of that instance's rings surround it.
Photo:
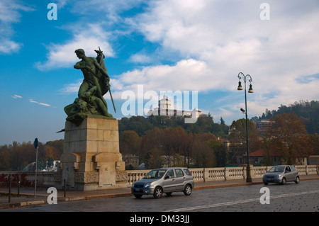
<path fill-rule="evenodd" d="M 318 99 L 318 77 L 299 79 L 319 72 L 318 1 L 268 2 L 270 21 L 259 18 L 261 1 L 152 1 L 131 24 L 163 52 L 191 60 L 123 73 L 119 80 L 150 89 L 231 91 L 244 72 L 252 75 L 250 113 L 257 115 L 281 103 Z"/>

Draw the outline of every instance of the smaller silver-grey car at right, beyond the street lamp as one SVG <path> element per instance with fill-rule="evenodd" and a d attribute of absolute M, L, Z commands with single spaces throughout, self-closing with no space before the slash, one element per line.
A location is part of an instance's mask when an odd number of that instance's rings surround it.
<path fill-rule="evenodd" d="M 273 166 L 262 178 L 265 185 L 268 183 L 285 184 L 289 181 L 299 183 L 299 180 L 298 171 L 295 167 L 289 165 Z"/>

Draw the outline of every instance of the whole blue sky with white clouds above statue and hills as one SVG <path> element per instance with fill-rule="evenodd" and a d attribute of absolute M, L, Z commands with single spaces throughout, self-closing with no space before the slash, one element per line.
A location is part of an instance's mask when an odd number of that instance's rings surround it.
<path fill-rule="evenodd" d="M 57 20 L 47 18 L 50 3 Z M 198 108 L 230 125 L 245 107 L 239 72 L 253 80 L 249 118 L 318 100 L 318 28 L 318 0 L 0 0 L 0 145 L 63 138 L 63 108 L 83 79 L 78 48 L 106 55 L 116 118 L 123 92 L 142 85 L 198 91 Z"/>

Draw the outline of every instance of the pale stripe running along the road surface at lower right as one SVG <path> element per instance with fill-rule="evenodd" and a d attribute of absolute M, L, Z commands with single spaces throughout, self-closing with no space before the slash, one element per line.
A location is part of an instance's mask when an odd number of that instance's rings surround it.
<path fill-rule="evenodd" d="M 286 198 L 286 197 L 291 197 L 291 196 L 303 196 L 303 195 L 308 195 L 308 194 L 312 194 L 312 193 L 319 193 L 319 190 L 303 191 L 303 192 L 298 192 L 298 193 L 289 193 L 289 194 L 283 194 L 283 195 L 278 195 L 278 196 L 270 196 L 270 199 Z M 199 205 L 199 206 L 188 207 L 188 208 L 179 208 L 179 209 L 174 209 L 174 210 L 168 210 L 166 212 L 201 210 L 201 209 L 215 208 L 215 207 L 227 206 L 227 205 L 237 205 L 237 204 L 242 204 L 242 203 L 259 202 L 259 200 L 260 200 L 260 198 L 251 198 L 251 199 L 237 200 L 237 201 L 227 202 L 227 203 L 216 203 L 216 204 L 211 204 L 211 205 Z"/>

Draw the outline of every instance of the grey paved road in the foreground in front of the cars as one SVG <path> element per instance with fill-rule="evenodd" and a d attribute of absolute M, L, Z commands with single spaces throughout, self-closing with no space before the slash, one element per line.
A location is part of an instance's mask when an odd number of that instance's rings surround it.
<path fill-rule="evenodd" d="M 262 204 L 264 203 L 264 204 Z M 141 212 L 319 212 L 318 180 L 286 185 L 262 184 L 193 191 L 191 196 L 173 193 L 155 199 L 143 196 L 98 198 L 52 205 L 0 210 L 0 212 L 128 212 L 138 220 Z M 127 213 L 126 213 L 127 215 Z M 158 219 L 159 220 L 159 219 Z"/>

